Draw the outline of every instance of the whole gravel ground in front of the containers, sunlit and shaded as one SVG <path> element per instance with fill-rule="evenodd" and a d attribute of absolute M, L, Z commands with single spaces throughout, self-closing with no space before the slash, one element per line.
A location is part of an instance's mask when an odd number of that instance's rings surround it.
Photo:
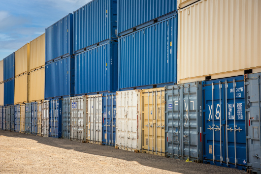
<path fill-rule="evenodd" d="M 244 174 L 114 147 L 0 130 L 0 173 Z"/>

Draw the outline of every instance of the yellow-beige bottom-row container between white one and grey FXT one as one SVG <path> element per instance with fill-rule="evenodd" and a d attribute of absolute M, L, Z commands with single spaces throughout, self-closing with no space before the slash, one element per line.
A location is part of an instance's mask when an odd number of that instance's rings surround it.
<path fill-rule="evenodd" d="M 165 156 L 164 87 L 142 89 L 142 153 Z"/>

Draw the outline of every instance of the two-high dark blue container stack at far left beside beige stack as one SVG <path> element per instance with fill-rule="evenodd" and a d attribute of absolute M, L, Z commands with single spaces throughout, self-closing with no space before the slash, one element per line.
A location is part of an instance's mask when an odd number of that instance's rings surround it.
<path fill-rule="evenodd" d="M 14 104 L 15 53 L 3 59 L 4 105 Z"/>

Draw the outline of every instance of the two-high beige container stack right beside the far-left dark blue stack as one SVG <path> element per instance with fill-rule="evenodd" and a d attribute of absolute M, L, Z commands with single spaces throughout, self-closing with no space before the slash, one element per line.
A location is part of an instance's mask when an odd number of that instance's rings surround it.
<path fill-rule="evenodd" d="M 27 43 L 15 52 L 14 103 L 28 102 L 30 44 Z"/>

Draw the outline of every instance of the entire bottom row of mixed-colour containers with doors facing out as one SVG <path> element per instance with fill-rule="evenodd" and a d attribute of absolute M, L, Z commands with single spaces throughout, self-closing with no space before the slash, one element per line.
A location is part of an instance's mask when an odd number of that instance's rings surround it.
<path fill-rule="evenodd" d="M 1 128 L 260 171 L 260 75 L 5 106 Z"/>

